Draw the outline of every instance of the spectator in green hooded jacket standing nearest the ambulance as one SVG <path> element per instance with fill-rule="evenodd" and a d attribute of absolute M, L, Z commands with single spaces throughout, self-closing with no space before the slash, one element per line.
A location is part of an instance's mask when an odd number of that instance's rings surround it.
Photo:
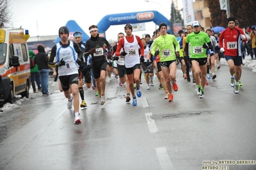
<path fill-rule="evenodd" d="M 33 50 L 29 50 L 29 53 L 30 53 L 30 58 L 35 61 L 35 52 L 33 52 Z M 30 75 L 31 75 L 31 84 L 33 88 L 33 93 L 37 93 L 35 89 L 35 82 L 37 82 L 38 91 L 42 91 L 40 86 L 40 75 L 39 75 L 37 64 L 35 64 L 33 68 L 30 68 Z"/>

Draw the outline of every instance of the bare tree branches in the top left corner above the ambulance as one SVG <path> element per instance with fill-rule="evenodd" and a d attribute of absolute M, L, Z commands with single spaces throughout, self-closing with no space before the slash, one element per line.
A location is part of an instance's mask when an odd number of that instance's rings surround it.
<path fill-rule="evenodd" d="M 10 4 L 8 0 L 0 0 L 0 24 L 8 24 L 11 20 Z"/>

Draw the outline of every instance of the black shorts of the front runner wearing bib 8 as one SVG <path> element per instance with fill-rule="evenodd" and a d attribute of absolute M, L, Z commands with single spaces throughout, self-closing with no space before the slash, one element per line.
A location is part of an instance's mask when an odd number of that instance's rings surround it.
<path fill-rule="evenodd" d="M 62 76 L 59 76 L 58 79 L 60 79 L 60 84 L 62 85 L 62 89 L 64 91 L 68 91 L 70 84 L 78 84 L 78 73 L 71 74 L 71 75 L 62 75 Z"/>

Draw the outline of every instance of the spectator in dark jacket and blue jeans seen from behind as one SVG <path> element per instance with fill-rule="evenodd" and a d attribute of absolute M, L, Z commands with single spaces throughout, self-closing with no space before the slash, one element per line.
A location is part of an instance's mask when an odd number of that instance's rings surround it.
<path fill-rule="evenodd" d="M 38 65 L 40 74 L 40 82 L 42 87 L 42 95 L 51 95 L 48 91 L 48 77 L 49 77 L 49 66 L 48 66 L 48 55 L 42 45 L 37 47 L 38 53 L 35 54 L 35 64 Z"/>

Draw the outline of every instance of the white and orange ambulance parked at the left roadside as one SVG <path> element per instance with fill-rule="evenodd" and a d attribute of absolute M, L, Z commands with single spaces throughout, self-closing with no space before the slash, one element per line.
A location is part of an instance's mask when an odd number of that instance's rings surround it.
<path fill-rule="evenodd" d="M 14 95 L 28 98 L 30 93 L 30 56 L 28 31 L 0 28 L 0 100 L 13 104 Z"/>

